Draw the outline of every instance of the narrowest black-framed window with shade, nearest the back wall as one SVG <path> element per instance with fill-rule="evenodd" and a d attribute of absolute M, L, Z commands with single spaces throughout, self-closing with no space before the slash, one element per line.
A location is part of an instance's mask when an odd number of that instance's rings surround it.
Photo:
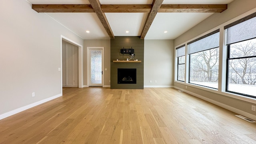
<path fill-rule="evenodd" d="M 185 82 L 185 44 L 176 48 L 177 51 L 177 80 Z"/>

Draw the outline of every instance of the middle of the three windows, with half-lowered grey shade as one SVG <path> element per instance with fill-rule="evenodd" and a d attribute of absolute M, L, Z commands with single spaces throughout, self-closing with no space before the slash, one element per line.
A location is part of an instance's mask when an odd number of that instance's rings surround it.
<path fill-rule="evenodd" d="M 220 30 L 188 43 L 189 83 L 218 89 Z"/>

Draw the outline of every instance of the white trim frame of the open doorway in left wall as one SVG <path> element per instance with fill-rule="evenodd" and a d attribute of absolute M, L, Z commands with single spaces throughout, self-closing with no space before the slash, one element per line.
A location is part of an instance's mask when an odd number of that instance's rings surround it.
<path fill-rule="evenodd" d="M 78 87 L 83 87 L 83 46 L 77 42 L 60 35 L 60 86 L 62 95 L 62 40 L 78 46 Z"/>

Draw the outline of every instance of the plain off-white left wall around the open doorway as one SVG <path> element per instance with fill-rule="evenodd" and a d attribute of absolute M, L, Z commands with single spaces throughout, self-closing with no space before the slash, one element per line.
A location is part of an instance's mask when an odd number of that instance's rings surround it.
<path fill-rule="evenodd" d="M 83 45 L 80 37 L 25 0 L 0 1 L 0 119 L 61 95 L 61 35 Z"/>

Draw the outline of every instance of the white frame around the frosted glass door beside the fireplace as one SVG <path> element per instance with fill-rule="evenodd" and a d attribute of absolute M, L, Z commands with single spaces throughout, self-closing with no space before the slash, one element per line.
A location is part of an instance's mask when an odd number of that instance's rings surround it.
<path fill-rule="evenodd" d="M 104 47 L 87 47 L 87 86 L 90 86 L 90 50 L 102 50 L 102 87 L 104 87 Z"/>

